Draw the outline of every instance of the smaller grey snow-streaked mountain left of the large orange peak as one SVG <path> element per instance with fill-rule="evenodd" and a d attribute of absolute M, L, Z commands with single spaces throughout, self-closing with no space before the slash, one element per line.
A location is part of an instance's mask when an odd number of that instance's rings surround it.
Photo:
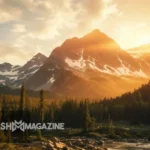
<path fill-rule="evenodd" d="M 0 64 L 0 83 L 13 88 L 18 88 L 23 81 L 30 78 L 46 60 L 41 53 L 35 55 L 23 66 L 13 66 L 9 63 Z"/>

